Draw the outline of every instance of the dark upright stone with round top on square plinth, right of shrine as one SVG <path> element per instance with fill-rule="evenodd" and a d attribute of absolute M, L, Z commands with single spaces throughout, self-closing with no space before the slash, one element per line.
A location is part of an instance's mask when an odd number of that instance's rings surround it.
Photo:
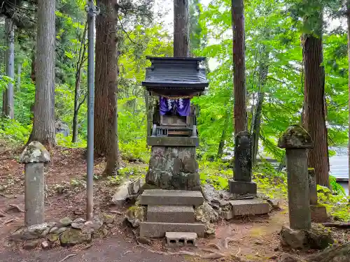
<path fill-rule="evenodd" d="M 251 182 L 251 175 L 251 134 L 247 131 L 241 131 L 235 138 L 235 175 L 233 180 L 229 180 L 230 193 L 255 195 L 256 184 Z"/>

